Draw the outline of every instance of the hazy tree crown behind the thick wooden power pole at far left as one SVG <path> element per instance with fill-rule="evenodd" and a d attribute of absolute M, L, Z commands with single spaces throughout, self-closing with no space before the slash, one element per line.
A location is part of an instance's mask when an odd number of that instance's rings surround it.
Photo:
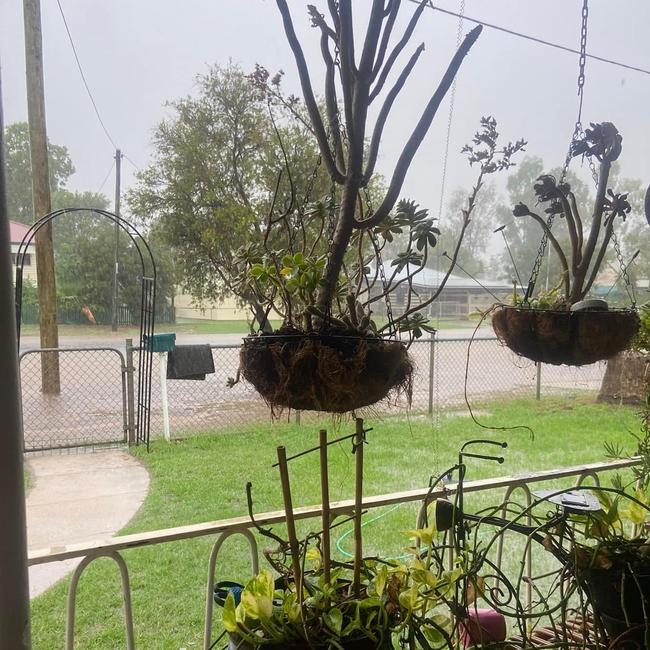
<path fill-rule="evenodd" d="M 7 207 L 9 217 L 21 223 L 34 223 L 32 203 L 32 168 L 29 153 L 29 126 L 16 122 L 5 128 Z M 52 201 L 74 174 L 75 169 L 66 147 L 48 142 L 50 189 Z M 38 215 L 43 216 L 43 215 Z"/>

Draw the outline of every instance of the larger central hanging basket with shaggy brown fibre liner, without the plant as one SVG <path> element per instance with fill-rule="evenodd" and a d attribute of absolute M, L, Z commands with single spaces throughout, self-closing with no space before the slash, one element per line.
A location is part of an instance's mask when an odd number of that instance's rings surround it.
<path fill-rule="evenodd" d="M 401 341 L 333 334 L 244 339 L 241 373 L 271 408 L 346 413 L 391 391 L 410 401 L 413 363 Z"/>

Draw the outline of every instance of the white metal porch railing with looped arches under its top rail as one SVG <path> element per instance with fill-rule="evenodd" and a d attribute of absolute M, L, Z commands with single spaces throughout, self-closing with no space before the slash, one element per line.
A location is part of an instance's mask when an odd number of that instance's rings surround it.
<path fill-rule="evenodd" d="M 506 489 L 509 497 L 514 491 L 522 490 L 527 502 L 530 502 L 531 490 L 530 485 L 543 481 L 559 480 L 565 478 L 575 478 L 576 484 L 582 484 L 587 478 L 591 478 L 595 483 L 599 483 L 598 475 L 601 472 L 622 470 L 637 465 L 637 459 L 616 460 L 604 463 L 591 463 L 587 465 L 577 465 L 572 467 L 563 467 L 559 469 L 544 470 L 531 472 L 516 476 L 501 476 L 497 478 L 481 479 L 476 481 L 467 481 L 464 484 L 464 492 L 483 492 L 487 490 Z M 421 502 L 425 499 L 436 499 L 453 495 L 456 491 L 456 485 L 446 484 L 444 488 L 430 492 L 429 488 L 419 488 L 405 492 L 393 492 L 376 496 L 365 497 L 362 502 L 364 511 L 390 506 L 395 504 Z M 354 511 L 354 501 L 352 499 L 333 502 L 330 505 L 331 516 L 338 517 L 341 515 L 350 515 Z M 320 517 L 322 514 L 319 505 L 296 508 L 294 517 L 296 519 L 311 519 Z M 272 524 L 281 524 L 285 521 L 283 510 L 265 512 L 255 515 L 257 525 L 268 526 Z M 131 591 L 129 584 L 129 574 L 126 562 L 120 555 L 120 551 L 126 549 L 140 548 L 153 544 L 164 544 L 166 542 L 192 539 L 195 537 L 206 537 L 208 535 L 217 535 L 217 539 L 212 546 L 208 559 L 208 580 L 205 597 L 205 625 L 204 625 L 204 650 L 210 648 L 212 642 L 212 613 L 213 613 L 213 586 L 216 572 L 216 563 L 219 551 L 223 542 L 233 536 L 242 535 L 250 549 L 251 553 L 251 572 L 257 573 L 259 565 L 259 553 L 257 541 L 252 530 L 254 526 L 248 516 L 234 517 L 231 519 L 222 519 L 217 521 L 208 521 L 200 524 L 190 524 L 187 526 L 178 526 L 176 528 L 165 528 L 145 533 L 135 533 L 132 535 L 122 535 L 112 537 L 107 540 L 97 540 L 82 544 L 69 544 L 57 546 L 48 549 L 32 551 L 29 554 L 29 566 L 58 562 L 73 558 L 81 558 L 81 562 L 72 574 L 70 590 L 68 593 L 67 618 L 66 618 L 66 650 L 74 648 L 74 627 L 75 627 L 75 606 L 77 596 L 77 585 L 79 578 L 85 568 L 94 560 L 100 557 L 110 557 L 118 565 L 121 575 L 121 589 L 124 600 L 124 625 L 126 631 L 126 640 L 128 650 L 134 650 L 135 637 L 133 625 L 133 613 L 131 609 Z M 498 549 L 498 561 L 500 562 L 502 547 Z M 528 571 L 531 571 L 530 555 L 526 559 Z M 528 595 L 530 598 L 530 594 Z"/>

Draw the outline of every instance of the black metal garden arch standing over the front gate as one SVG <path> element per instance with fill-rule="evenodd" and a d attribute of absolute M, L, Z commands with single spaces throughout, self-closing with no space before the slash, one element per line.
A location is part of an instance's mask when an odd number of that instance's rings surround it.
<path fill-rule="evenodd" d="M 20 321 L 23 297 L 23 267 L 25 255 L 36 233 L 57 217 L 73 212 L 85 212 L 104 217 L 117 224 L 129 237 L 140 258 L 142 265 L 141 302 L 140 302 L 140 356 L 138 362 L 138 410 L 136 419 L 135 442 L 144 443 L 149 448 L 151 431 L 151 372 L 153 350 L 150 344 L 154 333 L 156 306 L 156 262 L 151 248 L 140 231 L 122 217 L 99 208 L 62 208 L 54 210 L 35 221 L 23 237 L 16 254 L 16 344 L 20 348 Z"/>

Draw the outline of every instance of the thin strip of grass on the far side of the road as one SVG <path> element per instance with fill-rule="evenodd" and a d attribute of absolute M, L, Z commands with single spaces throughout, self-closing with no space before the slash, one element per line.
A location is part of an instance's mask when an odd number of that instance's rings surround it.
<path fill-rule="evenodd" d="M 437 323 L 432 321 L 435 327 L 440 330 L 448 329 L 470 329 L 476 323 L 469 320 L 441 320 Z M 381 324 L 381 322 L 379 323 Z M 274 328 L 280 327 L 280 321 L 271 321 Z M 248 323 L 245 320 L 199 320 L 179 318 L 176 323 L 156 325 L 156 331 L 176 332 L 177 334 L 247 334 Z M 23 336 L 37 336 L 38 325 L 21 325 Z M 112 332 L 110 325 L 59 325 L 59 336 L 117 336 L 137 337 L 140 333 L 138 327 L 120 327 L 117 332 Z"/>

